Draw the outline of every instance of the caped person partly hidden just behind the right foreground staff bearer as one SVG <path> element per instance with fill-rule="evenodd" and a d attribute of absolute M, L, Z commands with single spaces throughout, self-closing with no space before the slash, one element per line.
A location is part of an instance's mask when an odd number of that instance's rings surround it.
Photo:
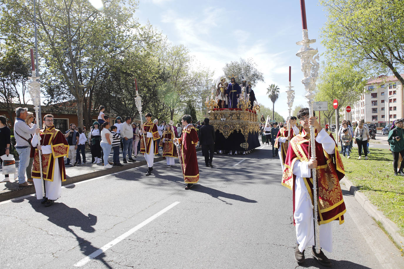
<path fill-rule="evenodd" d="M 275 148 L 280 148 L 278 151 L 279 159 L 280 159 L 280 165 L 282 166 L 282 171 L 284 170 L 284 165 L 285 165 L 285 158 L 286 158 L 286 152 L 288 151 L 288 144 L 290 138 L 294 138 L 297 134 L 301 132 L 301 127 L 296 126 L 296 117 L 290 117 L 290 120 L 286 122 L 286 124 L 279 129 L 278 135 L 276 136 L 275 139 Z M 290 124 L 290 136 L 289 130 L 288 130 L 288 123 Z"/>

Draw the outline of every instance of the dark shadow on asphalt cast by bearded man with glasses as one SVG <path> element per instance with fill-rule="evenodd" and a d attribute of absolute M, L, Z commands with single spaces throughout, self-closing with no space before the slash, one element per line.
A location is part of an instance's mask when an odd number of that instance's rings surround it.
<path fill-rule="evenodd" d="M 88 214 L 88 216 L 84 215 L 81 213 L 78 209 L 76 208 L 71 208 L 63 203 L 57 203 L 53 204 L 53 206 L 50 207 L 44 207 L 43 204 L 39 202 L 39 200 L 36 200 L 36 198 L 32 197 L 29 198 L 29 204 L 31 204 L 32 208 L 46 217 L 48 217 L 48 221 L 51 223 L 65 229 L 69 233 L 71 233 L 74 237 L 76 237 L 76 240 L 78 242 L 78 245 L 80 246 L 80 251 L 88 256 L 94 251 L 98 250 L 95 246 L 91 244 L 91 242 L 85 240 L 84 238 L 81 238 L 78 236 L 73 229 L 71 229 L 69 226 L 76 226 L 80 227 L 82 231 L 85 231 L 87 233 L 93 233 L 95 231 L 94 225 L 97 223 L 97 216 Z M 97 260 L 100 260 L 102 263 L 105 264 L 107 268 L 111 268 L 109 264 L 103 260 L 105 257 L 105 254 L 102 253 L 99 256 L 97 256 Z"/>

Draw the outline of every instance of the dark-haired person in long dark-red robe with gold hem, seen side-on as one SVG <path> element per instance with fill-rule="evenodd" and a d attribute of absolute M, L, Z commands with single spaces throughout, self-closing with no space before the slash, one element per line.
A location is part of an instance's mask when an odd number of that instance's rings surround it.
<path fill-rule="evenodd" d="M 184 125 L 182 136 L 181 138 L 176 138 L 174 142 L 178 141 L 181 146 L 182 173 L 184 181 L 187 183 L 185 190 L 189 190 L 199 180 L 199 167 L 195 149 L 198 143 L 198 133 L 194 125 L 192 125 L 192 117 L 190 115 L 182 116 L 181 123 Z"/>

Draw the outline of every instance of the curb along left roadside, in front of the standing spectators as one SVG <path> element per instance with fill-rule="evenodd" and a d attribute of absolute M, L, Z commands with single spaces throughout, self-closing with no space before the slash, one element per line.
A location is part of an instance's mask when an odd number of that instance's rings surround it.
<path fill-rule="evenodd" d="M 200 148 L 200 147 L 196 148 L 197 152 L 201 151 L 201 150 L 202 150 L 202 148 Z M 160 162 L 160 161 L 163 161 L 163 160 L 165 160 L 164 157 L 157 157 L 157 158 L 154 157 L 154 163 L 157 163 L 157 162 Z M 143 165 L 147 165 L 147 162 L 146 161 L 139 161 L 139 162 L 135 162 L 135 163 L 128 163 L 127 165 L 124 165 L 124 166 L 112 167 L 112 168 L 109 168 L 109 169 L 101 168 L 99 171 L 86 173 L 86 174 L 83 174 L 83 175 L 76 175 L 74 177 L 67 177 L 66 181 L 62 182 L 62 186 L 73 184 L 73 183 L 80 182 L 80 181 L 84 181 L 84 180 L 87 180 L 87 179 L 92 179 L 92 178 L 95 178 L 95 177 L 102 177 L 104 175 L 109 175 L 109 174 L 112 174 L 112 173 L 132 169 L 132 168 L 136 168 L 136 167 L 140 167 L 140 166 L 143 166 Z M 5 200 L 18 198 L 20 196 L 34 194 L 34 193 L 35 193 L 35 188 L 34 188 L 33 184 L 30 187 L 19 188 L 19 189 L 15 189 L 15 190 L 9 190 L 8 192 L 0 193 L 0 202 L 3 202 Z"/>

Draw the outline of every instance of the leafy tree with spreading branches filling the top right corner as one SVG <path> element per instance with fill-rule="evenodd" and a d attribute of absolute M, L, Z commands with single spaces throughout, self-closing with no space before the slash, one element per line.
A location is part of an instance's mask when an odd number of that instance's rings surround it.
<path fill-rule="evenodd" d="M 320 4 L 328 14 L 322 38 L 331 58 L 375 75 L 390 69 L 404 85 L 402 1 L 321 0 Z"/>

